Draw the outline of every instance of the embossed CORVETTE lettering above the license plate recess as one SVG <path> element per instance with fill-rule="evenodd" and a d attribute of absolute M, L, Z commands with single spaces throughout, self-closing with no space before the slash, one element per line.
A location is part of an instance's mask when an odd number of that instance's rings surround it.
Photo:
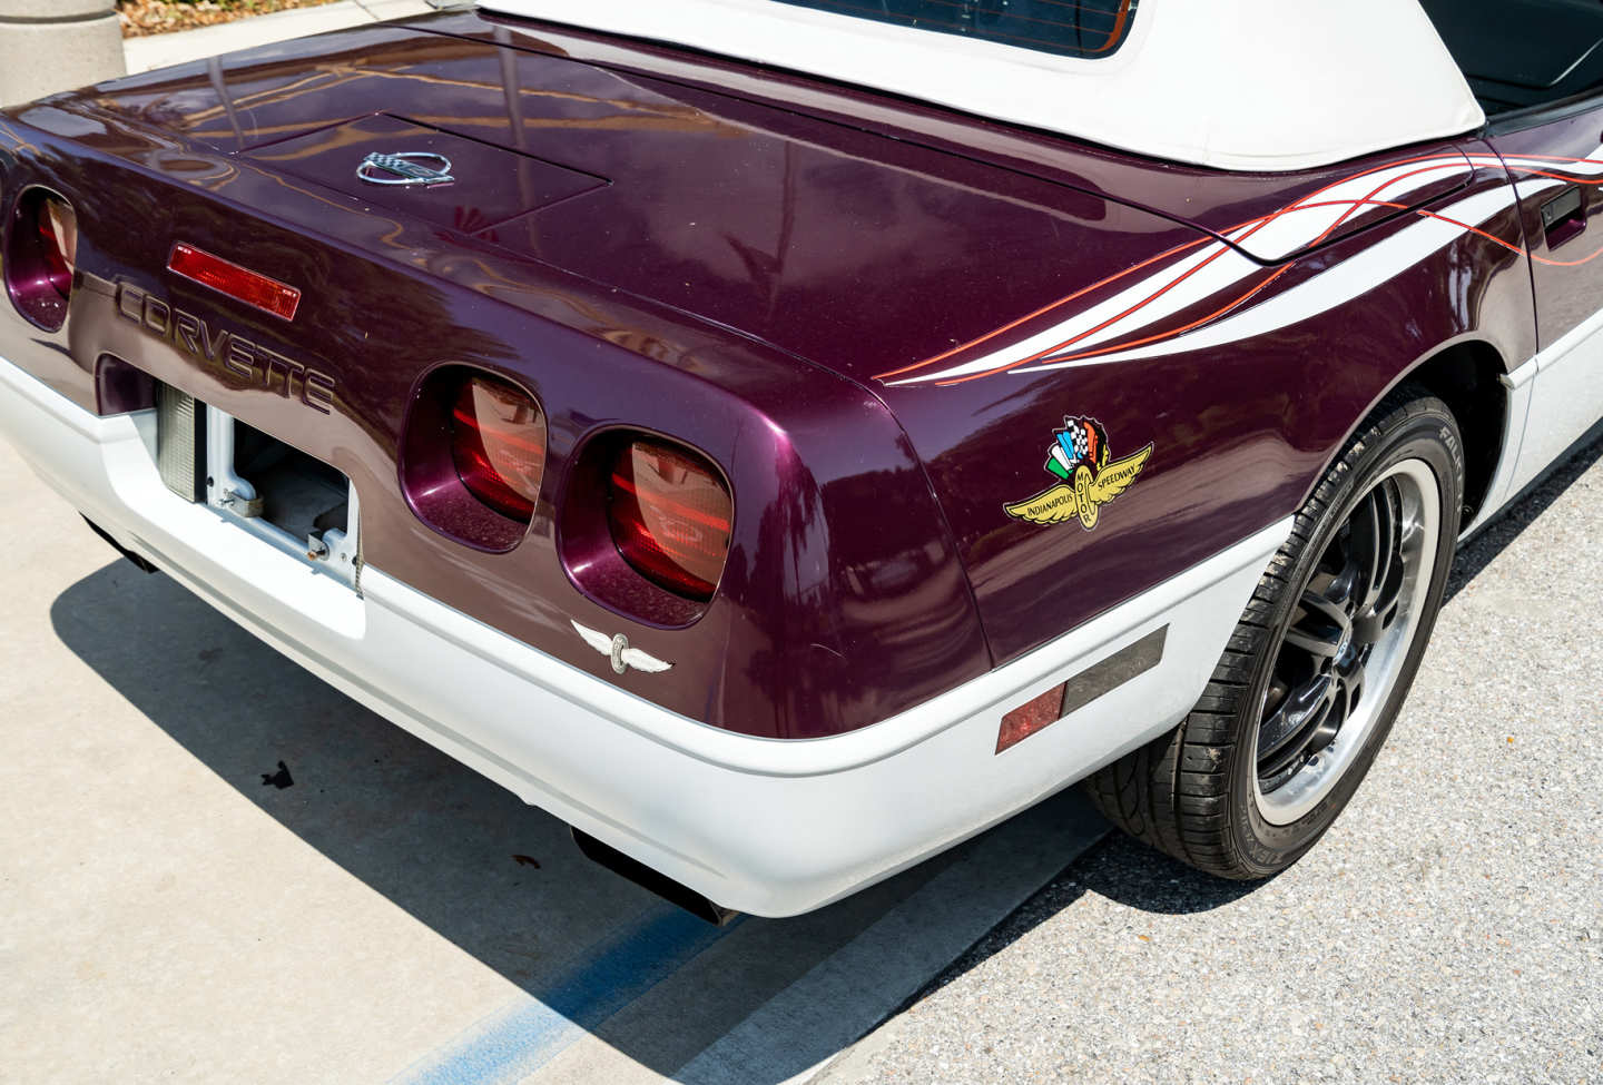
<path fill-rule="evenodd" d="M 239 380 L 276 391 L 285 399 L 300 399 L 321 413 L 333 410 L 335 381 L 329 373 L 234 332 L 212 329 L 202 317 L 175 309 L 165 300 L 127 282 L 117 284 L 117 316 Z"/>

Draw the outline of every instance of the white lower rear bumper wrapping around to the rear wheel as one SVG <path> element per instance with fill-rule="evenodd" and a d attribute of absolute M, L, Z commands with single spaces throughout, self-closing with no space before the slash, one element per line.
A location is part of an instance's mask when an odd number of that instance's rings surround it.
<path fill-rule="evenodd" d="M 1260 530 L 891 720 L 779 742 L 665 712 L 370 566 L 357 595 L 172 494 L 141 425 L 98 418 L 0 359 L 0 433 L 127 548 L 526 801 L 757 915 L 894 873 L 1177 723 L 1290 529 Z M 1156 667 L 995 753 L 1005 712 L 1164 625 Z"/>

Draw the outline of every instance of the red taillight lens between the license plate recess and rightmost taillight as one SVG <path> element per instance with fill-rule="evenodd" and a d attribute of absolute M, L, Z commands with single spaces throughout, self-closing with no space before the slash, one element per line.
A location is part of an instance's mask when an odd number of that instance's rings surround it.
<path fill-rule="evenodd" d="M 450 413 L 450 455 L 468 492 L 529 522 L 545 474 L 545 415 L 510 381 L 468 377 Z"/>

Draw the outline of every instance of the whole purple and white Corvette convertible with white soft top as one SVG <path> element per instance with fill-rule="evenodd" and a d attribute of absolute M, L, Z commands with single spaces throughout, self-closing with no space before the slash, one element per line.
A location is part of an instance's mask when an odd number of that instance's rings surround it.
<path fill-rule="evenodd" d="M 1077 780 L 1258 878 L 1603 415 L 1600 42 L 500 0 L 120 79 L 0 114 L 0 431 L 705 915 Z"/>

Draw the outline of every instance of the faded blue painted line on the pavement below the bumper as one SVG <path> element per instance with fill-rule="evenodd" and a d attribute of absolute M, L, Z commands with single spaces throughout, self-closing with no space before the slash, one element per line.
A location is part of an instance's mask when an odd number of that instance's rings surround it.
<path fill-rule="evenodd" d="M 580 965 L 539 995 L 491 1014 L 441 1051 L 409 1066 L 396 1085 L 510 1085 L 580 1040 L 704 949 L 725 926 L 654 906 L 624 933 L 580 954 Z"/>

